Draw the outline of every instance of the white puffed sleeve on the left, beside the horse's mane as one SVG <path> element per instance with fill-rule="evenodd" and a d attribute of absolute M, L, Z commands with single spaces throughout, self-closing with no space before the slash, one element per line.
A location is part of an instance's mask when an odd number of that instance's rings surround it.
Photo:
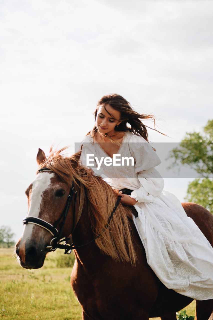
<path fill-rule="evenodd" d="M 95 161 L 95 159 L 94 161 L 93 160 L 90 161 L 90 163 L 93 163 L 93 165 L 92 164 L 87 165 L 87 155 L 94 155 L 95 157 L 95 153 L 96 153 L 95 148 L 92 145 L 92 140 L 90 139 L 89 136 L 85 136 L 81 141 L 79 151 L 80 150 L 81 150 L 80 160 L 82 161 L 82 164 L 85 167 L 88 167 L 88 168 L 90 167 L 94 171 L 95 176 L 101 176 L 103 174 L 103 169 L 102 168 L 99 168 L 99 170 L 97 169 L 98 164 Z"/>

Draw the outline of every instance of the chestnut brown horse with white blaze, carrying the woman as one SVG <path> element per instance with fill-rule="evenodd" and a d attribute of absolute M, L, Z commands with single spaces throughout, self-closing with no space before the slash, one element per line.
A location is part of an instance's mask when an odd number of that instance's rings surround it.
<path fill-rule="evenodd" d="M 41 268 L 59 238 L 72 236 L 76 259 L 71 284 L 84 320 L 175 320 L 176 311 L 193 299 L 167 289 L 149 267 L 129 207 L 118 204 L 109 222 L 118 199 L 114 190 L 92 176 L 79 161 L 80 153 L 68 158 L 60 151 L 48 159 L 41 149 L 37 154 L 43 171 L 26 190 L 28 218 L 16 244 L 20 265 Z M 198 204 L 183 207 L 213 244 L 211 213 Z M 208 320 L 213 300 L 196 302 L 196 319 Z"/>

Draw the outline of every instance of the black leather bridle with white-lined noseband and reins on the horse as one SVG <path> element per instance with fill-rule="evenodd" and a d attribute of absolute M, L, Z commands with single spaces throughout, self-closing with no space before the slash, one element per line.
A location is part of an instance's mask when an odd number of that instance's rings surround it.
<path fill-rule="evenodd" d="M 42 169 L 39 169 L 38 170 L 38 173 L 39 172 L 43 172 L 43 171 L 52 171 L 51 169 L 49 168 L 42 168 Z M 81 194 L 80 194 L 80 202 L 79 202 L 79 210 L 78 210 L 78 214 L 77 214 L 77 219 L 76 219 L 76 212 L 75 212 L 75 205 L 76 205 L 76 200 L 77 200 L 77 191 L 75 191 L 74 189 L 74 183 L 72 181 L 72 186 L 70 188 L 70 191 L 69 191 L 69 195 L 67 197 L 67 203 L 65 204 L 65 207 L 64 207 L 64 210 L 63 212 L 61 213 L 59 219 L 57 221 L 55 221 L 55 223 L 52 225 L 50 224 L 49 222 L 43 220 L 43 219 L 40 219 L 40 218 L 36 218 L 36 217 L 26 217 L 24 218 L 23 220 L 23 224 L 28 224 L 28 223 L 32 223 L 32 224 L 35 224 L 37 226 L 40 226 L 44 229 L 46 229 L 47 231 L 49 231 L 51 233 L 51 235 L 53 236 L 53 238 L 51 239 L 50 241 L 50 245 L 46 247 L 46 249 L 48 249 L 49 251 L 55 251 L 57 248 L 59 249 L 64 249 L 65 252 L 64 254 L 70 254 L 72 252 L 72 249 L 77 249 L 77 248 L 80 248 L 80 247 L 83 247 L 84 245 L 87 245 L 93 241 L 95 241 L 97 238 L 99 238 L 99 236 L 101 236 L 101 234 L 106 230 L 106 228 L 108 228 L 108 225 L 114 215 L 114 212 L 121 200 L 121 196 L 118 196 L 118 199 L 116 201 L 116 204 L 113 208 L 113 211 L 109 217 L 109 220 L 108 220 L 108 224 L 105 226 L 104 230 L 98 235 L 96 236 L 94 239 L 92 239 L 90 242 L 86 243 L 86 244 L 82 244 L 82 245 L 79 245 L 79 246 L 75 246 L 73 243 L 70 244 L 70 238 L 69 237 L 62 237 L 62 233 L 63 233 L 63 229 L 64 229 L 64 225 L 65 225 L 65 221 L 66 221 L 66 218 L 67 218 L 67 214 L 69 212 L 69 208 L 70 208 L 70 204 L 71 202 L 73 201 L 73 196 L 74 196 L 74 211 L 73 211 L 73 228 L 72 228 L 72 231 L 70 232 L 70 234 L 73 233 L 73 231 L 75 230 L 75 227 L 81 217 L 81 214 L 82 214 L 82 209 L 83 209 L 83 203 L 84 203 L 84 196 L 85 196 L 85 191 L 84 191 L 84 186 L 83 184 L 81 183 L 80 184 L 80 187 L 81 187 Z M 58 227 L 58 224 L 59 222 L 61 221 L 61 224 L 60 224 L 60 228 L 59 230 L 57 229 Z M 61 242 L 65 241 L 65 244 L 60 244 Z"/>

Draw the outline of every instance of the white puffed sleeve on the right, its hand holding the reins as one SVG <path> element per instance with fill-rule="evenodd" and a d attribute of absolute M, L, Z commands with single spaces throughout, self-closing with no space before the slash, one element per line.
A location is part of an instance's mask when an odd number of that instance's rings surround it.
<path fill-rule="evenodd" d="M 138 202 L 152 202 L 155 196 L 161 194 L 164 186 L 162 176 L 154 168 L 161 160 L 152 146 L 141 136 L 133 135 L 129 146 L 141 185 L 137 190 L 133 190 L 130 196 Z"/>

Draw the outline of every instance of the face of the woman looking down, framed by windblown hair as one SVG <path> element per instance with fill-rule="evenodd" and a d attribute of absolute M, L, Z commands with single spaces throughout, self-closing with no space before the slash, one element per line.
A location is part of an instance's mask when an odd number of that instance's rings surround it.
<path fill-rule="evenodd" d="M 105 108 L 110 115 L 106 112 Z M 98 131 L 102 134 L 114 134 L 115 126 L 121 123 L 121 121 L 119 121 L 121 113 L 112 108 L 109 104 L 106 104 L 105 108 L 104 106 L 99 107 L 96 116 L 96 126 Z"/>

